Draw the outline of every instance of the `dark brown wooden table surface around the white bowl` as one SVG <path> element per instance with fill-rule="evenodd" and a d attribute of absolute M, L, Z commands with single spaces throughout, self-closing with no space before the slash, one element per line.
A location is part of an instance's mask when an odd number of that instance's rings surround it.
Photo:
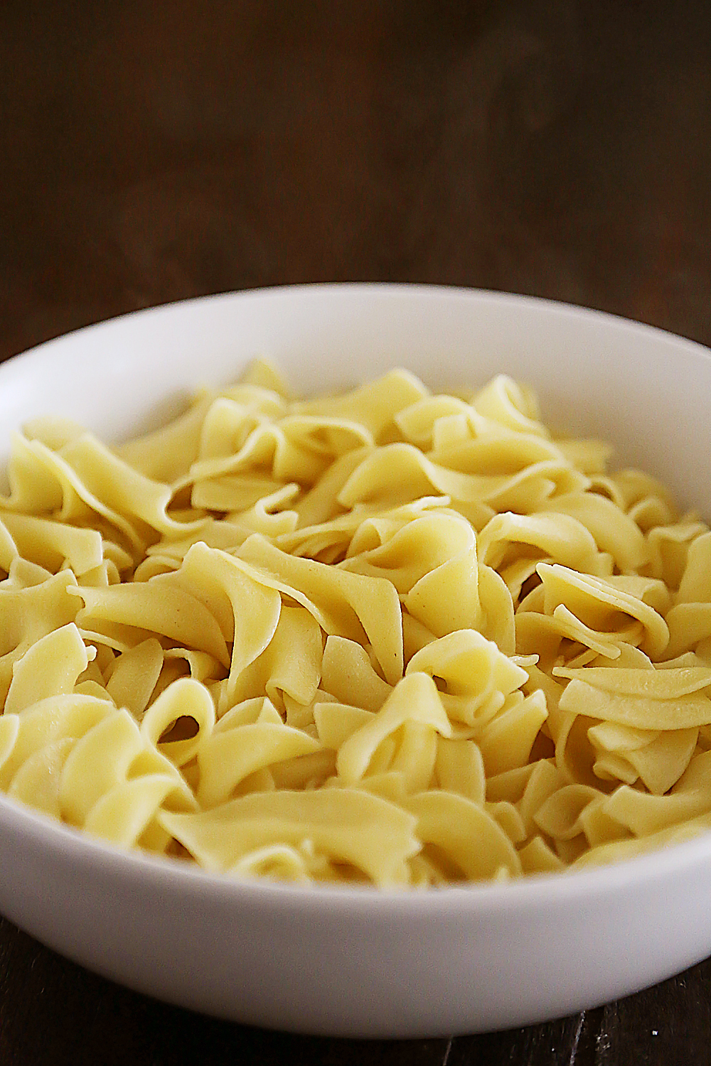
<path fill-rule="evenodd" d="M 533 293 L 709 343 L 709 12 L 6 0 L 0 358 L 166 301 L 342 279 Z M 310 1039 L 155 1003 L 0 920 L 0 1063 L 706 1063 L 710 979 L 506 1033 Z"/>

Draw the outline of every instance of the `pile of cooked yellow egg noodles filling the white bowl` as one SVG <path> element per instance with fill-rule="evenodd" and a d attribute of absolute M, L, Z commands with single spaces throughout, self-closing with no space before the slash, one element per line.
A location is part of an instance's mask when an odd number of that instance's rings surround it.
<path fill-rule="evenodd" d="M 711 827 L 711 533 L 505 376 L 293 402 L 257 361 L 112 450 L 13 436 L 0 789 L 210 871 L 425 887 Z"/>

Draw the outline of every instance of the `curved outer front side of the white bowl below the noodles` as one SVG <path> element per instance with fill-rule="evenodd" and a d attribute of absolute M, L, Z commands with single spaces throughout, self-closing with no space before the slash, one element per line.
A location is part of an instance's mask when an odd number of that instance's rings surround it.
<path fill-rule="evenodd" d="M 324 1035 L 450 1035 L 597 1005 L 708 954 L 705 843 L 670 849 L 658 871 L 642 860 L 429 898 L 310 891 L 122 855 L 3 800 L 14 873 L 0 909 L 103 976 L 206 1014 Z"/>

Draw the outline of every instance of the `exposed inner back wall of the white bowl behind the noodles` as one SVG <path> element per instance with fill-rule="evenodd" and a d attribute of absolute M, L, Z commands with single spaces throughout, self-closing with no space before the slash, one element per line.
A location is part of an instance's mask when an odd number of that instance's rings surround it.
<path fill-rule="evenodd" d="M 0 370 L 10 430 L 59 414 L 117 440 L 155 427 L 201 383 L 273 359 L 297 392 L 404 366 L 433 389 L 497 373 L 536 389 L 556 430 L 610 439 L 621 465 L 709 513 L 711 361 L 658 329 L 529 297 L 418 286 L 305 286 L 188 301 L 78 330 Z"/>

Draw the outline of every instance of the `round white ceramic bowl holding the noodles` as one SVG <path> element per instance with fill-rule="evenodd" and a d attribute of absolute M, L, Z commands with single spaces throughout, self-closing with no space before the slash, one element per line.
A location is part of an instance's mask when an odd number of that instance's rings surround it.
<path fill-rule="evenodd" d="M 399 365 L 432 386 L 505 371 L 537 389 L 550 422 L 611 439 L 621 463 L 711 514 L 709 352 L 591 311 L 455 289 L 275 289 L 82 329 L 0 367 L 3 448 L 45 413 L 119 439 L 260 354 L 306 392 Z M 0 910 L 49 947 L 168 1002 L 297 1032 L 520 1025 L 711 953 L 711 834 L 506 886 L 303 889 L 122 853 L 0 797 Z"/>

